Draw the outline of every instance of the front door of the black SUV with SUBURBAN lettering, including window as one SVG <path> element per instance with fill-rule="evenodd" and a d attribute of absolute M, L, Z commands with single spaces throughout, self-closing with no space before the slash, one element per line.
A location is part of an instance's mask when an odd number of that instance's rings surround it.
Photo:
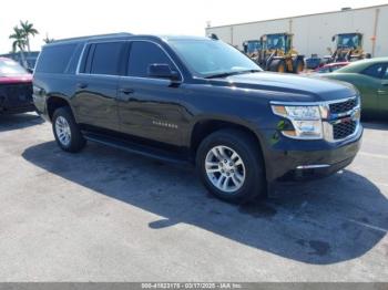
<path fill-rule="evenodd" d="M 151 41 L 132 41 L 126 76 L 119 85 L 119 115 L 121 131 L 143 138 L 181 145 L 182 132 L 187 124 L 183 106 L 181 81 L 150 77 L 150 64 L 169 64 L 178 69 L 166 51 Z"/>

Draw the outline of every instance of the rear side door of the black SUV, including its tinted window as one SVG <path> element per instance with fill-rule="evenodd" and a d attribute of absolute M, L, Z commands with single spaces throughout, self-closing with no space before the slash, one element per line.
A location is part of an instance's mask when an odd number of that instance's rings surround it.
<path fill-rule="evenodd" d="M 112 41 L 84 49 L 73 104 L 78 122 L 91 130 L 119 131 L 116 97 L 125 48 L 126 42 Z"/>

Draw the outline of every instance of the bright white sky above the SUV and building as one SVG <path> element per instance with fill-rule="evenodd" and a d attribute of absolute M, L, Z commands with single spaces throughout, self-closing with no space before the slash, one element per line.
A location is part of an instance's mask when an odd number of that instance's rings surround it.
<path fill-rule="evenodd" d="M 9 35 L 20 20 L 40 32 L 31 40 L 40 50 L 53 39 L 112 32 L 205 35 L 205 27 L 386 4 L 388 0 L 19 0 L 0 6 L 0 53 L 12 48 Z"/>

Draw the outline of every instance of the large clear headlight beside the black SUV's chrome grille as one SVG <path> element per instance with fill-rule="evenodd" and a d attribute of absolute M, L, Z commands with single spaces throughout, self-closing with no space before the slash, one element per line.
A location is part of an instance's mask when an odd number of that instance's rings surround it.
<path fill-rule="evenodd" d="M 274 114 L 288 118 L 294 130 L 282 131 L 283 135 L 298 139 L 323 138 L 319 106 L 272 105 Z"/>

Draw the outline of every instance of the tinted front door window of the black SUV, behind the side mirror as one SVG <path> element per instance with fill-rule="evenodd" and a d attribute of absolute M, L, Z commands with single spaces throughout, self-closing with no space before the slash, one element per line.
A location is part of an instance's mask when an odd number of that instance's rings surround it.
<path fill-rule="evenodd" d="M 175 70 L 170 58 L 155 43 L 132 42 L 127 75 L 145 77 L 147 76 L 149 65 L 154 63 L 169 64 L 172 70 Z"/>

